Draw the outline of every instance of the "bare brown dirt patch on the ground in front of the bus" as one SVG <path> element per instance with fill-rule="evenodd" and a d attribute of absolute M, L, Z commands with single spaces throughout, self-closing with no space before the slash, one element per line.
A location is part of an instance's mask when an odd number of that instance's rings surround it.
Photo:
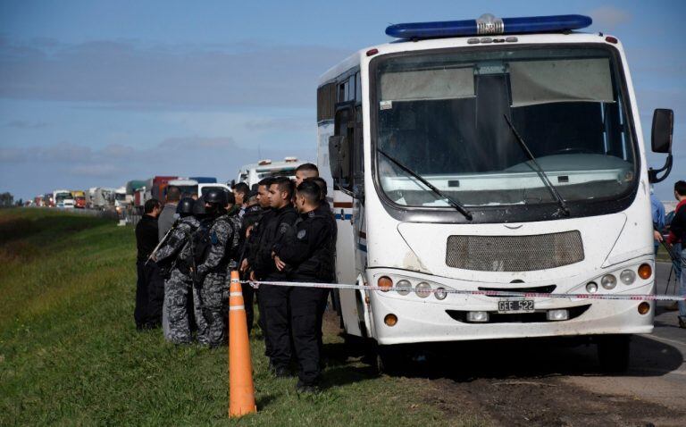
<path fill-rule="evenodd" d="M 598 395 L 556 378 L 431 381 L 424 389 L 446 422 L 476 417 L 492 425 L 684 425 L 683 414 L 619 395 Z"/>

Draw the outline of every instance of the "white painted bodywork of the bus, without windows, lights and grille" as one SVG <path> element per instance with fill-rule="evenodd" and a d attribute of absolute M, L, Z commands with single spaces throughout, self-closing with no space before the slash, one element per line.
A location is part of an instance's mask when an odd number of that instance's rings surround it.
<path fill-rule="evenodd" d="M 518 35 L 518 45 L 565 43 L 605 44 L 604 37 L 593 34 L 544 34 Z M 584 293 L 590 280 L 599 280 L 607 272 L 621 272 L 623 268 L 636 267 L 642 263 L 654 267 L 652 242 L 652 219 L 648 191 L 648 172 L 643 145 L 642 130 L 631 75 L 621 44 L 615 47 L 623 65 L 632 112 L 633 127 L 640 161 L 640 183 L 632 205 L 621 213 L 563 219 L 546 222 L 497 223 L 497 224 L 438 224 L 398 222 L 386 212 L 377 196 L 372 181 L 372 147 L 369 105 L 369 62 L 381 55 L 414 50 L 446 47 L 479 48 L 467 44 L 467 38 L 442 38 L 418 42 L 391 43 L 371 46 L 348 57 L 344 62 L 324 73 L 319 85 L 334 80 L 340 74 L 359 66 L 363 96 L 364 131 L 364 211 L 359 201 L 342 191 L 333 191 L 333 209 L 337 214 L 339 234 L 337 242 L 337 274 L 339 283 L 376 284 L 382 275 L 402 277 L 416 284 L 426 280 L 453 289 L 478 290 L 481 286 L 498 287 L 512 280 L 524 280 L 527 287 L 556 285 L 555 293 Z M 485 45 L 484 47 L 491 47 Z M 366 56 L 368 49 L 379 53 Z M 320 122 L 318 126 L 318 164 L 322 177 L 329 185 L 330 166 L 328 139 L 333 135 L 332 121 Z M 350 204 L 350 208 L 337 204 Z M 348 213 L 350 217 L 346 218 Z M 343 215 L 341 215 L 343 213 Z M 452 234 L 478 235 L 535 235 L 565 230 L 579 230 L 583 241 L 584 259 L 580 263 L 531 272 L 477 272 L 448 267 L 446 264 L 446 240 Z M 360 233 L 362 231 L 362 233 Z M 365 239 L 362 239 L 364 236 Z M 653 271 L 655 269 L 653 268 Z M 358 276 L 359 274 L 359 276 Z M 624 286 L 621 282 L 613 291 L 602 288 L 598 292 L 624 294 L 652 294 L 655 292 L 655 276 L 648 280 Z M 357 294 L 357 295 L 356 295 Z M 368 299 L 365 299 L 367 297 Z M 366 302 L 368 301 L 368 303 Z M 458 322 L 447 310 L 490 311 L 497 310 L 498 298 L 485 296 L 448 295 L 439 301 L 432 295 L 418 297 L 414 292 L 400 296 L 396 292 L 340 291 L 343 322 L 347 333 L 367 335 L 381 345 L 450 341 L 464 339 L 503 339 L 523 337 L 546 337 L 565 335 L 590 335 L 607 333 L 649 333 L 653 330 L 655 304 L 649 314 L 637 312 L 639 301 L 588 300 L 573 298 L 536 298 L 537 309 L 590 305 L 579 318 L 564 322 Z M 386 314 L 396 314 L 397 324 L 386 326 Z M 365 331 L 362 331 L 362 330 Z"/>

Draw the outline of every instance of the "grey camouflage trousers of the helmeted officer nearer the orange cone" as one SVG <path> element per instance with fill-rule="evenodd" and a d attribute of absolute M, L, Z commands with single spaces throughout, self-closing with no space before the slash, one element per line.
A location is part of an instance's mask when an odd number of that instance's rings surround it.
<path fill-rule="evenodd" d="M 227 342 L 229 319 L 229 283 L 226 274 L 207 274 L 200 294 L 202 301 L 194 295 L 197 340 L 210 347 L 221 346 Z"/>

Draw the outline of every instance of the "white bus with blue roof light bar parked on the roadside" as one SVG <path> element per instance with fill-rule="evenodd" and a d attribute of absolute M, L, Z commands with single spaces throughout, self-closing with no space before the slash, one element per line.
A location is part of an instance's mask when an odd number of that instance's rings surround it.
<path fill-rule="evenodd" d="M 389 289 L 341 289 L 339 311 L 381 365 L 399 344 L 581 336 L 621 371 L 631 334 L 653 330 L 652 302 L 440 291 L 655 291 L 623 47 L 568 30 L 588 17 L 552 18 L 564 28 L 486 15 L 392 26 L 407 39 L 360 50 L 319 81 L 338 281 Z M 670 152 L 672 121 L 656 111 L 653 151 Z"/>

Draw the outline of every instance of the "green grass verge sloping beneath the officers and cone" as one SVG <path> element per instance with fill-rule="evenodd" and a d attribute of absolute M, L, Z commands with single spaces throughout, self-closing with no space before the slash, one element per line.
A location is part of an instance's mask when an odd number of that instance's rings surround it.
<path fill-rule="evenodd" d="M 298 396 L 251 342 L 258 413 L 227 417 L 225 347 L 176 347 L 133 322 L 135 239 L 112 220 L 0 210 L 0 425 L 437 425 L 421 380 L 375 376 L 325 336 L 329 387 Z M 453 425 L 474 424 L 473 417 Z"/>

